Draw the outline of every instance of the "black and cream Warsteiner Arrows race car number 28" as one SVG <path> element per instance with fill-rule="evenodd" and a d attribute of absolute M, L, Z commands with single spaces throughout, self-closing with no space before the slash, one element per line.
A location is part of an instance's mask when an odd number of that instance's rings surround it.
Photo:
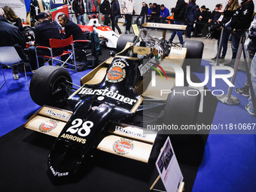
<path fill-rule="evenodd" d="M 193 90 L 175 87 L 181 79 L 175 70 L 182 69 L 192 52 L 201 59 L 203 43 L 186 41 L 183 47 L 171 47 L 142 29 L 138 37 L 121 35 L 117 53 L 81 78 L 81 86 L 72 84 L 66 69 L 38 69 L 29 91 L 42 107 L 25 127 L 56 137 L 48 156 L 52 174 L 76 175 L 96 149 L 154 164 L 166 135 L 147 130 L 148 124 L 197 122 L 200 94 L 175 95 Z M 163 89 L 169 93 L 162 94 Z"/>

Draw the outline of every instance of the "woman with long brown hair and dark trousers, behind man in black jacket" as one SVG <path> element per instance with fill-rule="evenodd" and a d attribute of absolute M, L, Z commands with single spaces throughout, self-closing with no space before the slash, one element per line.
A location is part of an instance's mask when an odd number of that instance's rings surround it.
<path fill-rule="evenodd" d="M 228 0 L 227 5 L 224 8 L 224 11 L 226 11 L 226 10 L 235 11 L 237 8 L 239 8 L 238 0 Z M 230 16 L 225 15 L 223 17 L 223 19 L 221 20 L 221 23 L 224 23 L 225 27 L 224 27 L 224 31 L 223 31 L 223 37 L 222 37 L 222 48 L 223 48 L 222 54 L 220 53 L 218 62 L 225 62 L 225 56 L 227 53 L 227 43 L 228 43 L 228 38 L 230 36 L 230 31 L 231 31 L 230 19 L 231 19 Z M 219 44 L 219 42 L 220 42 L 220 39 L 218 38 L 218 44 Z M 217 53 L 216 53 L 216 56 L 212 58 L 212 60 L 215 60 L 216 58 L 217 58 Z"/>

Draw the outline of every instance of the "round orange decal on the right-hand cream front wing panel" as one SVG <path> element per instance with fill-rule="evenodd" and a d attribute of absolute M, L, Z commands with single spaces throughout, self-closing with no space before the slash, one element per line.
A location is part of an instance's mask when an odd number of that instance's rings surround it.
<path fill-rule="evenodd" d="M 129 139 L 120 139 L 114 142 L 113 150 L 116 154 L 124 155 L 133 150 L 133 143 Z"/>

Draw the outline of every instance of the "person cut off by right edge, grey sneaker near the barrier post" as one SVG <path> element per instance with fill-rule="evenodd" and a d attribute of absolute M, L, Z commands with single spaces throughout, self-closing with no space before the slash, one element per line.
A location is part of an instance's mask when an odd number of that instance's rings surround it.
<path fill-rule="evenodd" d="M 249 62 L 248 62 L 248 67 L 249 67 L 249 71 L 250 70 L 250 63 L 251 63 L 251 59 L 254 57 L 254 54 L 256 52 L 256 15 L 254 17 L 253 22 L 251 23 L 251 27 L 249 29 L 249 38 L 251 39 L 251 41 L 248 44 L 248 55 L 249 55 Z M 256 71 L 256 70 L 255 70 Z M 242 96 L 249 96 L 249 84 L 248 84 L 248 80 L 245 83 L 245 87 L 242 88 L 236 88 L 235 89 L 236 93 L 241 94 Z"/>

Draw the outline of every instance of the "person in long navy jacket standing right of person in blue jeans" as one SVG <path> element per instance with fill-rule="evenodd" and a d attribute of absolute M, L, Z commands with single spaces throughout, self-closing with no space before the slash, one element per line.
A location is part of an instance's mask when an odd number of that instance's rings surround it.
<path fill-rule="evenodd" d="M 185 11 L 185 20 L 187 21 L 187 38 L 191 38 L 191 32 L 194 22 L 197 22 L 196 0 L 190 0 Z"/>

